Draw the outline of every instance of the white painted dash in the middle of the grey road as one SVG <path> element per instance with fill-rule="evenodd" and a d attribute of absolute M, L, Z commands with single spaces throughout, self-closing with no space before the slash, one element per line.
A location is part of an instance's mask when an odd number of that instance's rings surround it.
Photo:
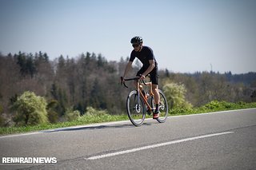
<path fill-rule="evenodd" d="M 142 150 L 146 150 L 146 149 L 150 149 L 150 148 L 158 148 L 158 147 L 166 146 L 166 145 L 170 145 L 170 144 L 178 144 L 178 143 L 182 143 L 182 142 L 186 142 L 186 141 L 190 141 L 190 140 L 198 140 L 198 139 L 202 139 L 202 138 L 206 138 L 206 137 L 220 136 L 220 135 L 226 135 L 226 134 L 230 134 L 230 133 L 233 133 L 233 132 L 218 132 L 218 133 L 209 134 L 209 135 L 194 136 L 194 137 L 190 137 L 190 138 L 186 138 L 186 139 L 182 139 L 182 140 L 174 140 L 174 141 L 169 141 L 169 142 L 160 143 L 160 144 L 148 145 L 148 146 L 144 146 L 144 147 L 140 147 L 140 148 L 132 148 L 132 149 L 124 150 L 124 151 L 120 151 L 120 152 L 112 152 L 112 153 L 107 153 L 107 154 L 98 155 L 98 156 L 91 156 L 89 158 L 85 158 L 85 160 L 98 160 L 98 159 L 102 159 L 105 157 L 118 156 L 118 155 L 130 153 L 130 152 L 138 152 L 138 151 L 142 151 Z"/>

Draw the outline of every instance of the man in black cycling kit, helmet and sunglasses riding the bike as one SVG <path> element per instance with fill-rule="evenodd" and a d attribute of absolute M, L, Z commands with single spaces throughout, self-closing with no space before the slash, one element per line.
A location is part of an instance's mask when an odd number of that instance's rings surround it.
<path fill-rule="evenodd" d="M 153 119 L 157 119 L 159 117 L 158 63 L 154 58 L 153 50 L 150 49 L 150 47 L 148 46 L 142 45 L 143 40 L 141 37 L 136 36 L 134 38 L 131 38 L 130 43 L 132 44 L 134 49 L 130 53 L 130 60 L 126 65 L 123 77 L 125 78 L 126 74 L 129 72 L 134 58 L 138 57 L 143 65 L 136 74 L 136 77 L 140 77 L 140 79 L 143 80 L 146 75 L 150 74 L 150 81 L 152 82 L 152 90 L 154 93 L 154 101 L 156 104 Z"/>

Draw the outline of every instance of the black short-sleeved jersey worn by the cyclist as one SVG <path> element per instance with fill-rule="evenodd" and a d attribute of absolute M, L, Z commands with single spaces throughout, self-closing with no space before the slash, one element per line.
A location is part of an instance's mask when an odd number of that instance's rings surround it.
<path fill-rule="evenodd" d="M 142 50 L 138 52 L 133 50 L 130 53 L 130 61 L 134 61 L 135 57 L 138 57 L 138 59 L 142 62 L 143 67 L 148 68 L 150 66 L 150 60 L 154 60 L 155 65 L 158 65 L 154 58 L 153 50 L 148 46 L 142 46 Z"/>

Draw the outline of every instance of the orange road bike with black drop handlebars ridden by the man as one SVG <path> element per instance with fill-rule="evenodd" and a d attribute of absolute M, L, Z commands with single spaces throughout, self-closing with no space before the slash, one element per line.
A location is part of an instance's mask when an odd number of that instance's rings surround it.
<path fill-rule="evenodd" d="M 155 102 L 154 93 L 152 91 L 152 82 L 140 81 L 139 77 L 124 79 L 121 77 L 122 84 L 128 88 L 126 81 L 136 81 L 137 87 L 132 90 L 126 99 L 126 111 L 131 123 L 135 126 L 140 126 L 143 124 L 146 113 L 150 115 L 154 113 Z M 143 86 L 149 86 L 150 91 L 146 92 Z M 160 102 L 159 102 L 159 117 L 156 119 L 159 123 L 164 123 L 168 116 L 168 104 L 166 97 L 161 89 L 158 89 Z"/>

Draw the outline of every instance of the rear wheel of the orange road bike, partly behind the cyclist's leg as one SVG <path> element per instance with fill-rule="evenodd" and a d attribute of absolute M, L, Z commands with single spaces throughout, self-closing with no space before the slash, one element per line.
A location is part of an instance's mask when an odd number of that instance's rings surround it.
<path fill-rule="evenodd" d="M 162 93 L 162 90 L 158 89 L 158 92 L 159 92 L 159 96 L 160 96 L 160 102 L 159 102 L 160 113 L 159 113 L 159 117 L 158 117 L 157 121 L 159 123 L 164 123 L 168 116 L 168 104 L 167 104 L 167 100 L 166 100 L 164 93 Z M 152 97 L 152 99 L 151 99 L 151 106 L 152 106 L 152 108 L 155 109 L 154 97 Z"/>

